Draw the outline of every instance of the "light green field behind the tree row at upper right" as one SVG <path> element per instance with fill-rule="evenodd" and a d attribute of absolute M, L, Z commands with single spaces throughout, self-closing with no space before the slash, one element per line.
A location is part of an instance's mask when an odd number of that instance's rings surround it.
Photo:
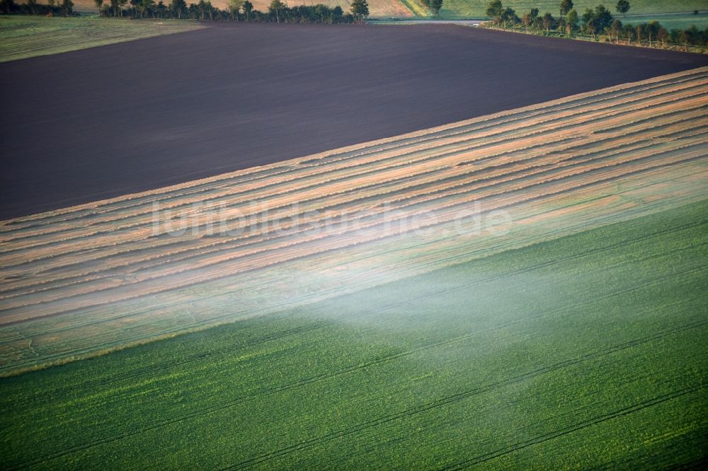
<path fill-rule="evenodd" d="M 550 12 L 558 16 L 560 0 L 502 0 L 504 6 L 510 6 L 521 16 L 531 8 L 539 8 L 541 13 Z M 579 13 L 586 8 L 594 8 L 604 4 L 613 14 L 617 0 L 575 0 L 574 8 Z M 708 0 L 629 0 L 629 13 L 646 15 L 649 13 L 678 13 L 694 10 L 708 10 Z M 442 18 L 486 18 L 486 8 L 489 0 L 443 0 L 440 16 Z M 651 18 L 661 21 L 661 17 Z"/>

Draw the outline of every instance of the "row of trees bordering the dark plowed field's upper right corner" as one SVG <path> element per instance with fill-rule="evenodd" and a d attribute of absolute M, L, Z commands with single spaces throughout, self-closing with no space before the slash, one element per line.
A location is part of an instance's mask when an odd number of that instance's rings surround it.
<path fill-rule="evenodd" d="M 615 9 L 622 16 L 631 8 L 629 1 L 619 0 Z M 559 16 L 554 17 L 552 13 L 546 12 L 543 15 L 539 8 L 531 8 L 523 13 L 519 18 L 513 8 L 504 8 L 501 0 L 491 0 L 486 10 L 487 16 L 491 18 L 494 25 L 499 28 L 518 29 L 524 28 L 527 31 L 535 31 L 544 34 L 565 34 L 576 33 L 591 36 L 593 40 L 598 35 L 604 35 L 610 42 L 624 43 L 632 45 L 632 42 L 641 45 L 655 47 L 661 44 L 666 47 L 668 44 L 683 45 L 685 49 L 689 45 L 708 46 L 708 28 L 702 31 L 695 25 L 681 30 L 678 28 L 664 28 L 658 21 L 649 23 L 623 24 L 619 18 L 612 16 L 610 10 L 600 4 L 595 8 L 586 8 L 586 11 L 579 15 L 573 8 L 573 0 L 561 0 L 559 3 Z"/>

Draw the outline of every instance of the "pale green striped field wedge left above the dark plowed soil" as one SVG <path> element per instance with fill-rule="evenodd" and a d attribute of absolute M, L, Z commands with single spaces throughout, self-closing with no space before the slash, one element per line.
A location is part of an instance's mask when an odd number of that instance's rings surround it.
<path fill-rule="evenodd" d="M 202 28 L 188 21 L 0 16 L 0 62 Z"/>

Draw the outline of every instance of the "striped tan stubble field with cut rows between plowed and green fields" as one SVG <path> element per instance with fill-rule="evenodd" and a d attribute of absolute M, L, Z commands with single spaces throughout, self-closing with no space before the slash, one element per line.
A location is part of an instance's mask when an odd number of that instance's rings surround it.
<path fill-rule="evenodd" d="M 708 68 L 0 222 L 0 373 L 708 197 Z"/>

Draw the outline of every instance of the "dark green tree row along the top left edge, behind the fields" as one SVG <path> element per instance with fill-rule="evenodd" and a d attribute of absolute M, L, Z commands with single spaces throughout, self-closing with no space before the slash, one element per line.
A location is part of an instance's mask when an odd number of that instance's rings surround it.
<path fill-rule="evenodd" d="M 442 4 L 442 0 L 439 0 Z M 352 0 L 350 13 L 341 6 L 326 5 L 289 7 L 281 0 L 271 0 L 268 11 L 254 8 L 249 0 L 230 0 L 222 10 L 208 0 L 187 4 L 185 0 L 93 0 L 99 16 L 113 18 L 190 19 L 199 21 L 254 21 L 274 23 L 362 23 L 369 16 L 367 0 Z M 47 0 L 40 4 L 28 0 L 17 4 L 14 0 L 0 0 L 0 11 L 5 14 L 40 16 L 76 16 L 72 0 Z"/>

